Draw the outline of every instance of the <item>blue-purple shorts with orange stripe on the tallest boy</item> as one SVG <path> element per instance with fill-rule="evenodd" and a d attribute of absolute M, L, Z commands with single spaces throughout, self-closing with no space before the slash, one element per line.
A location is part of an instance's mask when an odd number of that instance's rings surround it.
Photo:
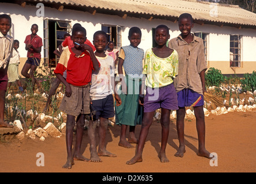
<path fill-rule="evenodd" d="M 177 93 L 179 107 L 202 106 L 204 104 L 203 95 L 191 89 L 183 89 Z"/>

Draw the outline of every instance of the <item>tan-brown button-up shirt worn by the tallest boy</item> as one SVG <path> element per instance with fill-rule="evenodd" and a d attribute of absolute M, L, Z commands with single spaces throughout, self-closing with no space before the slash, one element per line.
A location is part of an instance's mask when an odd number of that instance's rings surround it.
<path fill-rule="evenodd" d="M 194 35 L 193 41 L 187 43 L 179 35 L 169 41 L 169 48 L 175 49 L 179 55 L 179 72 L 173 84 L 176 92 L 191 89 L 203 94 L 200 72 L 207 69 L 203 40 Z"/>

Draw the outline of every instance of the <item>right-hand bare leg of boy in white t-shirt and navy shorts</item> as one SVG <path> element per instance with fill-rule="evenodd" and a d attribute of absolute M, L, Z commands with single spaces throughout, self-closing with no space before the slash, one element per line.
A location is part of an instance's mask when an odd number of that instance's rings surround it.
<path fill-rule="evenodd" d="M 106 133 L 107 133 L 107 125 L 109 124 L 109 119 L 107 118 L 99 118 L 99 156 L 110 156 L 116 157 L 115 154 L 110 153 L 106 150 Z"/>

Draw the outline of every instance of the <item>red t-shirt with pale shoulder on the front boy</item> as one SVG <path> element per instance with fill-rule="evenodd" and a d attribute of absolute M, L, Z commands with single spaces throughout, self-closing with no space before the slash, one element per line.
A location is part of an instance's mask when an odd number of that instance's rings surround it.
<path fill-rule="evenodd" d="M 101 64 L 99 63 L 99 66 Z M 64 49 L 60 61 L 54 70 L 54 74 L 61 74 L 66 70 L 66 82 L 74 86 L 83 86 L 91 82 L 92 70 L 94 70 L 90 53 L 83 52 L 76 56 L 72 48 Z"/>

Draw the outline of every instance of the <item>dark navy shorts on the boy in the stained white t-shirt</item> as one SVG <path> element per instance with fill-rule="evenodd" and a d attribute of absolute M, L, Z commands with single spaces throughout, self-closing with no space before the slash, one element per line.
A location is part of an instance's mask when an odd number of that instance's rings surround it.
<path fill-rule="evenodd" d="M 99 117 L 103 117 L 103 118 L 114 117 L 113 95 L 110 94 L 103 99 L 93 100 L 92 104 L 90 104 L 90 110 L 91 110 L 91 116 L 94 121 L 98 120 Z M 95 112 L 95 113 L 92 113 L 92 112 Z"/>

